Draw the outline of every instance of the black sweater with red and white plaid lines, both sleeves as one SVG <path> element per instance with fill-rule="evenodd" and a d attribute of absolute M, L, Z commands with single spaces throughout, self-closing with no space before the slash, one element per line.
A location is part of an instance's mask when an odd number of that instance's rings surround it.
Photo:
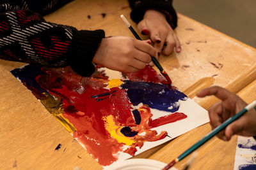
<path fill-rule="evenodd" d="M 93 56 L 103 30 L 77 31 L 68 25 L 46 22 L 43 15 L 72 0 L 1 0 L 0 2 L 0 58 L 39 64 L 46 67 L 70 66 L 82 76 L 95 71 Z M 177 15 L 172 0 L 129 0 L 131 18 L 138 23 L 148 9 L 162 11 L 173 27 Z"/>

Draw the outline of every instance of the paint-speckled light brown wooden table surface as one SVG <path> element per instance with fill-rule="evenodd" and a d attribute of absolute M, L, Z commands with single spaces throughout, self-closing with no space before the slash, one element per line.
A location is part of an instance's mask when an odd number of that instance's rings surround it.
<path fill-rule="evenodd" d="M 77 0 L 45 16 L 45 20 L 72 25 L 79 30 L 104 29 L 106 36 L 133 37 L 120 18 L 123 14 L 129 19 L 131 9 L 128 6 L 127 1 Z M 106 13 L 106 17 L 103 18 L 102 13 Z M 206 110 L 217 100 L 214 97 L 199 99 L 195 93 L 211 85 L 220 85 L 238 93 L 248 103 L 253 101 L 256 98 L 255 48 L 184 15 L 178 16 L 175 31 L 182 44 L 182 52 L 159 59 L 171 76 L 173 85 Z M 11 69 L 23 65 L 0 60 L 1 169 L 102 169 L 10 73 Z M 209 124 L 202 125 L 136 157 L 167 163 L 209 131 Z M 59 144 L 61 148 L 55 150 Z M 236 137 L 229 142 L 213 138 L 198 151 L 191 169 L 233 169 Z M 183 167 L 187 159 L 176 167 Z"/>

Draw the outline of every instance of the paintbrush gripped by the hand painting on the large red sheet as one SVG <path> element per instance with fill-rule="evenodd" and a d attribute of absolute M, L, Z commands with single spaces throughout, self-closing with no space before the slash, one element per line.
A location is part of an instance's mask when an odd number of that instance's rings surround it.
<path fill-rule="evenodd" d="M 120 17 L 124 20 L 125 24 L 127 25 L 127 27 L 131 30 L 132 34 L 134 35 L 134 37 L 136 39 L 142 40 L 140 38 L 140 36 L 137 34 L 137 32 L 133 29 L 132 25 L 128 22 L 128 20 L 124 17 L 124 15 L 120 15 Z M 168 83 L 170 85 L 172 85 L 172 80 L 170 79 L 170 77 L 168 76 L 168 74 L 164 71 L 163 67 L 161 66 L 161 64 L 158 62 L 158 60 L 156 59 L 156 57 L 151 56 L 151 60 L 152 62 L 154 62 L 155 66 L 159 69 L 160 73 L 164 76 L 164 78 L 166 78 L 166 80 L 168 81 Z"/>

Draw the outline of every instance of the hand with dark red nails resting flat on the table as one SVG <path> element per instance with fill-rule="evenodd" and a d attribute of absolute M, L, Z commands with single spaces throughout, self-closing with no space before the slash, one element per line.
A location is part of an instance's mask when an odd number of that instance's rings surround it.
<path fill-rule="evenodd" d="M 163 13 L 156 10 L 147 10 L 143 20 L 138 24 L 138 30 L 147 34 L 154 42 L 154 48 L 163 55 L 170 55 L 175 47 L 180 52 L 180 41 L 172 27 L 166 21 Z"/>

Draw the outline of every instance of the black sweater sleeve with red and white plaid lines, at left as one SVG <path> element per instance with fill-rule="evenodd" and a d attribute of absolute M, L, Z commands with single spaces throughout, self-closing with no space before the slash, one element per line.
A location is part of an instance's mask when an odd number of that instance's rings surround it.
<path fill-rule="evenodd" d="M 17 3 L 0 1 L 0 58 L 46 67 L 70 66 L 82 76 L 95 71 L 93 56 L 105 34 L 46 22 Z"/>

